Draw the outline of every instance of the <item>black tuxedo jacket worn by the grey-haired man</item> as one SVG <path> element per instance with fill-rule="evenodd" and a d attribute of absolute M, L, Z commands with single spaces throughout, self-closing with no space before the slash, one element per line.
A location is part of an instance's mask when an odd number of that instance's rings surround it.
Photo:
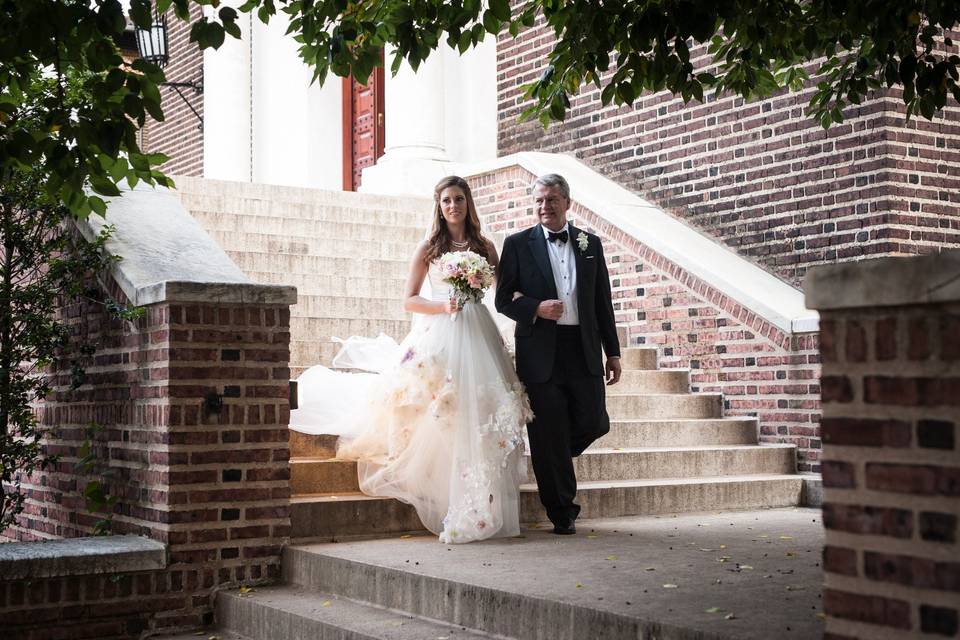
<path fill-rule="evenodd" d="M 587 237 L 586 250 L 579 237 Z M 600 238 L 570 225 L 570 239 L 577 263 L 577 305 L 583 354 L 591 375 L 603 375 L 603 355 L 620 355 L 617 326 L 610 298 L 610 276 Z M 513 299 L 513 293 L 523 295 Z M 546 382 L 553 374 L 557 323 L 537 317 L 537 306 L 557 299 L 557 286 L 547 254 L 547 240 L 538 224 L 515 233 L 503 243 L 497 269 L 497 311 L 517 322 L 517 375 L 523 382 Z"/>

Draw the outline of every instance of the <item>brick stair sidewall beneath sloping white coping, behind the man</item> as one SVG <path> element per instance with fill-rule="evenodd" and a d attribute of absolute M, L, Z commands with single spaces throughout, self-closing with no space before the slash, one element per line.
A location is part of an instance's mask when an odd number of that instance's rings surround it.
<path fill-rule="evenodd" d="M 484 228 L 536 223 L 534 175 L 511 167 L 470 177 Z M 603 240 L 617 324 L 660 366 L 689 367 L 693 391 L 722 392 L 726 415 L 756 416 L 762 442 L 797 445 L 800 471 L 820 470 L 816 334 L 787 334 L 574 202 L 570 218 Z"/>

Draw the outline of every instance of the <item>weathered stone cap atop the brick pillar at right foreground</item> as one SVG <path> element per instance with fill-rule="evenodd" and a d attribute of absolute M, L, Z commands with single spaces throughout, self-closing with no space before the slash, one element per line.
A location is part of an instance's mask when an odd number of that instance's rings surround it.
<path fill-rule="evenodd" d="M 820 310 L 958 302 L 960 250 L 814 267 L 803 290 Z"/>

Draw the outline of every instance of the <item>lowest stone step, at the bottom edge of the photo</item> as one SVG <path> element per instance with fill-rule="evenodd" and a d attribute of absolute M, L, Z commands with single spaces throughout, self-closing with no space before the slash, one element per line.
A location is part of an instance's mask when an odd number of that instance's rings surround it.
<path fill-rule="evenodd" d="M 371 606 L 297 585 L 217 592 L 222 628 L 250 640 L 425 640 L 493 638 L 448 622 Z"/>

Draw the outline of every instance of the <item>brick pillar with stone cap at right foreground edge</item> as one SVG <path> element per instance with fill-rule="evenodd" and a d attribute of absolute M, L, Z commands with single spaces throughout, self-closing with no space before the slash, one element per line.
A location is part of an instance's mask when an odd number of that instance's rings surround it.
<path fill-rule="evenodd" d="M 827 638 L 960 632 L 960 252 L 816 269 Z"/>

